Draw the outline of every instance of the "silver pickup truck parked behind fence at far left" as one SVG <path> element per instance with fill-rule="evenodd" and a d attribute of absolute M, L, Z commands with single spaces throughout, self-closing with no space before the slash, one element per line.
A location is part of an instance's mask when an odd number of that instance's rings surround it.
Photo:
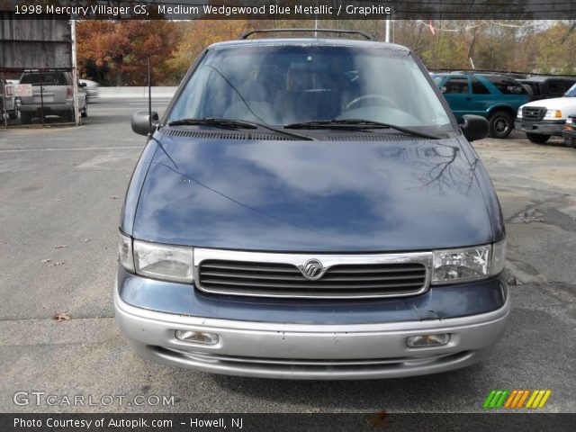
<path fill-rule="evenodd" d="M 20 84 L 31 84 L 32 95 L 16 97 L 16 106 L 23 124 L 31 123 L 35 116 L 59 115 L 74 121 L 72 74 L 59 70 L 27 70 L 20 77 Z M 88 115 L 86 95 L 76 87 L 78 107 L 82 117 Z"/>

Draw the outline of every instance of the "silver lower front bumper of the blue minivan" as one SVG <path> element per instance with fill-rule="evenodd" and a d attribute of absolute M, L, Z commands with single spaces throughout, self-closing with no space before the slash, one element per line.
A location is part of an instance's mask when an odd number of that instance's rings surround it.
<path fill-rule="evenodd" d="M 217 320 L 148 311 L 114 293 L 117 323 L 140 356 L 215 374 L 314 380 L 436 374 L 482 361 L 503 335 L 498 311 L 450 320 L 314 325 Z M 216 345 L 186 343 L 175 330 L 217 333 Z M 409 336 L 450 333 L 444 347 L 410 348 Z"/>

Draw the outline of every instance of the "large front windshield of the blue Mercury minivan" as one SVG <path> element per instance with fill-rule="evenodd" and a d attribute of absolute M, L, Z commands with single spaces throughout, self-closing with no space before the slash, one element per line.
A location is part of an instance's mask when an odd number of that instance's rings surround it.
<path fill-rule="evenodd" d="M 356 46 L 211 49 L 167 120 L 207 118 L 278 126 L 365 120 L 429 132 L 453 129 L 428 76 L 407 51 Z"/>

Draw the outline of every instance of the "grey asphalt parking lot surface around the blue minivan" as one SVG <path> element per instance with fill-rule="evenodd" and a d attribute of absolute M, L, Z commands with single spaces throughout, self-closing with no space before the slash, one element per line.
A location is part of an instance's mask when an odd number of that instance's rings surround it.
<path fill-rule="evenodd" d="M 100 100 L 79 127 L 0 129 L 0 411 L 472 412 L 492 389 L 550 389 L 545 411 L 576 412 L 576 149 L 517 132 L 474 143 L 509 235 L 511 320 L 488 362 L 372 382 L 247 379 L 141 360 L 114 324 L 119 214 L 145 145 L 130 114 L 147 106 Z M 16 392 L 56 403 L 17 405 Z"/>

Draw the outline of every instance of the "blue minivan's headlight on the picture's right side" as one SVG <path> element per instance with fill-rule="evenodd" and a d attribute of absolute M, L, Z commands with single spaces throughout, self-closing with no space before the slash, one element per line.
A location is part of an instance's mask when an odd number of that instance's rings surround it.
<path fill-rule="evenodd" d="M 498 275 L 504 268 L 506 240 L 494 245 L 435 250 L 432 284 L 457 284 Z"/>

